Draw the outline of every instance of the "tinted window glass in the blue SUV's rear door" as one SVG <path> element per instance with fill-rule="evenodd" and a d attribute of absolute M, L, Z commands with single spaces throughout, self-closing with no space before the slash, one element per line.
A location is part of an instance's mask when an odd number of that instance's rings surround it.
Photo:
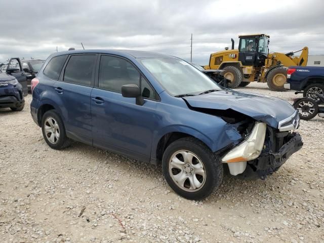
<path fill-rule="evenodd" d="M 69 59 L 63 81 L 77 85 L 91 86 L 96 55 L 75 55 Z"/>

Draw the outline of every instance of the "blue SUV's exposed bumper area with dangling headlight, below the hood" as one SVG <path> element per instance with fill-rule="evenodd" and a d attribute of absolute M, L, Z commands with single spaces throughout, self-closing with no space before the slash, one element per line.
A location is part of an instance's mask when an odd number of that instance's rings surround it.
<path fill-rule="evenodd" d="M 227 163 L 231 175 L 242 179 L 264 180 L 302 146 L 298 133 L 280 132 L 265 123 L 256 122 L 244 141 L 220 155 L 222 162 Z"/>

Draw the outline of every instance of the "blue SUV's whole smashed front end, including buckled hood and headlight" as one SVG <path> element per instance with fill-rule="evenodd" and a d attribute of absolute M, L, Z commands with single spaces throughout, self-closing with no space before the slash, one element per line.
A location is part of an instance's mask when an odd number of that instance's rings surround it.
<path fill-rule="evenodd" d="M 216 151 L 231 175 L 264 180 L 303 146 L 301 136 L 292 132 L 299 127 L 298 112 L 287 102 L 238 92 L 232 92 L 235 98 L 221 91 L 217 94 L 185 101 L 192 110 L 222 118 L 230 128 L 226 133 L 235 131 L 240 137 L 235 141 L 231 137 L 232 143 Z"/>

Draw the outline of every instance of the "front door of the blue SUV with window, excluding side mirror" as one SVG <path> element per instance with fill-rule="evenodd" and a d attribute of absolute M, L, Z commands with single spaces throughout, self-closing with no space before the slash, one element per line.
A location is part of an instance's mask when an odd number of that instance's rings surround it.
<path fill-rule="evenodd" d="M 154 90 L 135 66 L 126 59 L 102 55 L 98 88 L 91 94 L 93 143 L 146 161 L 151 151 L 152 134 L 156 127 Z M 135 98 L 121 95 L 121 86 L 136 84 L 142 89 L 144 105 Z"/>

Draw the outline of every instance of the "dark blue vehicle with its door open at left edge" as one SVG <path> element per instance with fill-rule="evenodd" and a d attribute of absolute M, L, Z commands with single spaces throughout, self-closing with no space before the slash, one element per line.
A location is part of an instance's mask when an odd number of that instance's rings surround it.
<path fill-rule="evenodd" d="M 27 78 L 20 59 L 11 58 L 6 70 L 0 70 L 0 108 L 22 110 L 27 94 Z"/>

